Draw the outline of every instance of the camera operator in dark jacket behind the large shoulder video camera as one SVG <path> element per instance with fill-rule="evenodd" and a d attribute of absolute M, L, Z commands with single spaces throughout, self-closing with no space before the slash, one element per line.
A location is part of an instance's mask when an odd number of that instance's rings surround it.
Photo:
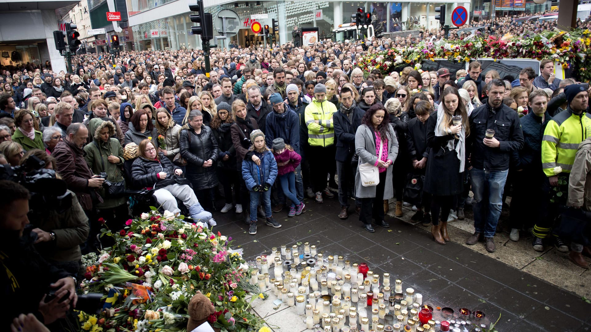
<path fill-rule="evenodd" d="M 43 161 L 45 170 L 56 169 L 56 159 L 40 149 L 33 149 L 27 152 L 21 160 L 21 168 L 27 174 L 33 174 L 38 167 L 34 165 L 35 157 Z M 35 165 L 36 166 L 36 165 Z M 33 195 L 31 202 L 31 213 L 33 230 L 37 234 L 35 248 L 40 252 L 46 261 L 58 268 L 64 269 L 72 275 L 77 275 L 80 270 L 80 245 L 82 245 L 89 233 L 88 217 L 82 210 L 82 206 L 72 191 L 66 190 L 64 181 L 51 187 L 45 192 L 43 198 L 35 199 Z"/>

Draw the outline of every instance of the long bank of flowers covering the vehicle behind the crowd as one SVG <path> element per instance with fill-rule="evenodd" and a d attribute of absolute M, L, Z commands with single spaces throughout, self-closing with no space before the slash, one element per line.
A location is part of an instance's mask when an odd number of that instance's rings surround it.
<path fill-rule="evenodd" d="M 404 66 L 414 66 L 424 60 L 445 58 L 449 61 L 470 61 L 479 57 L 493 58 L 553 58 L 564 69 L 576 68 L 579 79 L 591 80 L 591 31 L 570 32 L 554 30 L 541 34 L 484 38 L 471 35 L 456 41 L 422 41 L 415 46 L 378 51 L 358 61 L 365 73 L 379 69 L 384 74 Z"/>

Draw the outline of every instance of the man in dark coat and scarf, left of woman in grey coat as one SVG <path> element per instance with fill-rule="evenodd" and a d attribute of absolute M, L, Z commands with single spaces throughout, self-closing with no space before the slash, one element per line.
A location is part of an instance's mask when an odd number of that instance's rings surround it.
<path fill-rule="evenodd" d="M 355 154 L 355 132 L 361 125 L 363 110 L 353 99 L 353 91 L 343 87 L 340 92 L 340 109 L 333 115 L 336 137 L 336 172 L 339 175 L 340 219 L 349 216 L 349 194 L 355 187 L 355 171 L 351 164 Z M 357 200 L 356 200 L 357 201 Z"/>

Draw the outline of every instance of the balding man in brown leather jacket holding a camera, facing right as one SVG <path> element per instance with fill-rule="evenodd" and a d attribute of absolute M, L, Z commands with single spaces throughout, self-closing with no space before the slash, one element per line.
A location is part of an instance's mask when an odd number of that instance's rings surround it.
<path fill-rule="evenodd" d="M 68 126 L 66 136 L 60 141 L 51 155 L 56 158 L 57 172 L 61 175 L 68 188 L 76 194 L 90 224 L 90 236 L 86 241 L 86 250 L 95 249 L 95 239 L 100 228 L 95 213 L 95 204 L 103 203 L 98 190 L 105 181 L 99 175 L 92 174 L 84 158 L 83 147 L 88 138 L 88 129 L 82 123 Z"/>

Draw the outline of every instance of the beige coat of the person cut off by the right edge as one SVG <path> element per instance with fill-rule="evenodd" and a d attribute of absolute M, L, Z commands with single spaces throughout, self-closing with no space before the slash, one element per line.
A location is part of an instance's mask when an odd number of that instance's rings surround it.
<path fill-rule="evenodd" d="M 568 206 L 591 211 L 591 136 L 579 144 L 569 177 Z"/>

